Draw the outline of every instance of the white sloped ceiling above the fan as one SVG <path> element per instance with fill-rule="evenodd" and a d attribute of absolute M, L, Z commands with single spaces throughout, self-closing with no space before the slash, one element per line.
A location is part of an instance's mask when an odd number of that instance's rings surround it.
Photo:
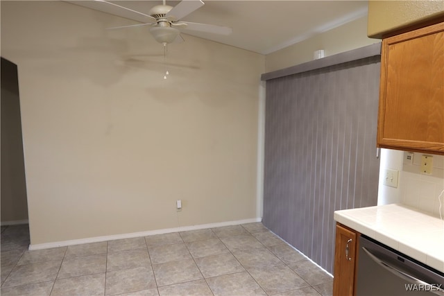
<path fill-rule="evenodd" d="M 69 1 L 80 6 L 119 15 L 127 19 L 144 22 L 144 17 L 100 1 Z M 162 1 L 112 1 L 121 6 L 148 14 L 151 7 Z M 313 35 L 341 26 L 363 17 L 368 11 L 368 2 L 358 1 L 215 1 L 204 0 L 205 5 L 192 12 L 182 21 L 193 21 L 219 26 L 229 26 L 229 36 L 189 32 L 189 35 L 203 37 L 241 49 L 268 54 Z M 179 1 L 167 1 L 176 6 Z M 126 24 L 122 24 L 126 25 Z M 128 30 L 128 29 L 127 29 Z M 185 33 L 185 31 L 184 31 Z M 151 37 L 151 36 L 149 36 Z M 186 35 L 183 35 L 185 41 Z"/>

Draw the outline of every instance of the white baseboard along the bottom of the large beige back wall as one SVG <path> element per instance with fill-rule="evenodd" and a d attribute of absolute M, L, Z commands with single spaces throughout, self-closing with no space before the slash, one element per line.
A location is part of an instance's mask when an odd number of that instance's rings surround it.
<path fill-rule="evenodd" d="M 240 224 L 254 223 L 254 222 L 261 222 L 261 221 L 262 221 L 262 218 L 251 218 L 251 219 L 228 221 L 228 222 L 221 222 L 221 223 L 210 223 L 210 224 L 201 224 L 201 225 L 192 225 L 192 226 L 184 226 L 184 227 L 150 230 L 148 232 L 133 232 L 133 233 L 129 233 L 129 234 L 114 234 L 114 235 L 110 235 L 110 236 L 96 236 L 96 237 L 92 237 L 92 238 L 80 238 L 80 239 L 73 239 L 70 241 L 57 241 L 57 242 L 53 242 L 53 243 L 37 243 L 35 245 L 29 245 L 29 250 L 42 250 L 42 249 L 49 249 L 51 247 L 65 247 L 67 245 L 80 245 L 82 243 L 98 243 L 101 241 L 113 241 L 113 240 L 122 239 L 122 238 L 135 238 L 135 237 L 140 237 L 140 236 L 151 236 L 151 235 L 155 235 L 155 234 L 169 234 L 171 232 L 187 232 L 189 230 L 214 228 L 214 227 L 222 227 L 222 226 L 229 226 L 229 225 L 240 225 Z"/>

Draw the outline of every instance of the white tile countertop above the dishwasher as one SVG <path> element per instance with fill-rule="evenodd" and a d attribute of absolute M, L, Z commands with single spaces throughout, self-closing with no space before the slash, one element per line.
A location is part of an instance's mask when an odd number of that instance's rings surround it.
<path fill-rule="evenodd" d="M 404 204 L 344 209 L 334 220 L 444 272 L 444 221 Z"/>

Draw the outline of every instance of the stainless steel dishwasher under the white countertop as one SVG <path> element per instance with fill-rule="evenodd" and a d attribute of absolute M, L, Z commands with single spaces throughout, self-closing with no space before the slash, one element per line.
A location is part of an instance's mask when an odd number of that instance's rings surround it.
<path fill-rule="evenodd" d="M 356 291 L 357 296 L 444 296 L 444 273 L 361 236 Z"/>

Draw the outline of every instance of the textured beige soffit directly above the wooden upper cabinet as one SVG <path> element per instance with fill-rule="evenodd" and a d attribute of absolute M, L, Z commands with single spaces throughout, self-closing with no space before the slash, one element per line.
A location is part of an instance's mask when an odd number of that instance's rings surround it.
<path fill-rule="evenodd" d="M 368 36 L 382 35 L 421 21 L 444 17 L 442 0 L 368 1 Z"/>

